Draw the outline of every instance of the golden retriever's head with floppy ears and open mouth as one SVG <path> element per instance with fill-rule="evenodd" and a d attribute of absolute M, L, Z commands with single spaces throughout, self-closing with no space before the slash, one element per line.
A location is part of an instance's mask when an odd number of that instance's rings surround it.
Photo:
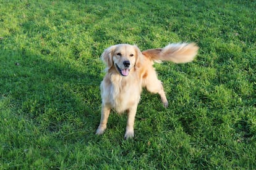
<path fill-rule="evenodd" d="M 114 67 L 121 76 L 128 76 L 132 68 L 137 69 L 140 67 L 143 57 L 137 46 L 117 44 L 108 47 L 101 55 L 101 58 L 107 65 L 107 71 Z"/>

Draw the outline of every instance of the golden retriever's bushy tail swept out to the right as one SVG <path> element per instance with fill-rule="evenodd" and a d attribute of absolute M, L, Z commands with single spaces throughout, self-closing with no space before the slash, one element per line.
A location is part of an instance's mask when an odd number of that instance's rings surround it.
<path fill-rule="evenodd" d="M 162 49 L 148 49 L 142 54 L 151 60 L 171 61 L 174 63 L 187 63 L 194 60 L 197 55 L 198 46 L 195 43 L 177 43 L 169 44 Z"/>

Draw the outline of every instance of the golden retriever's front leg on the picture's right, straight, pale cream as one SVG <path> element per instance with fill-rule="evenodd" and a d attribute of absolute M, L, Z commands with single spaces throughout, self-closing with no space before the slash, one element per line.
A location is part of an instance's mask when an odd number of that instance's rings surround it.
<path fill-rule="evenodd" d="M 135 105 L 134 107 L 128 110 L 126 134 L 124 135 L 125 139 L 134 137 L 134 120 L 135 120 L 136 111 L 137 111 L 137 105 Z"/>

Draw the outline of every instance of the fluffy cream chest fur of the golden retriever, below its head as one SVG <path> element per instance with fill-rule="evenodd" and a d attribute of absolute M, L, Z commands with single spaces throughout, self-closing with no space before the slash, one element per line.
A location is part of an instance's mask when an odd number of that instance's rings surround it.
<path fill-rule="evenodd" d="M 140 101 L 140 95 L 133 94 L 140 94 L 142 87 L 139 85 L 141 82 L 135 82 L 140 81 L 136 76 L 136 74 L 130 74 L 127 77 L 105 76 L 101 82 L 103 104 L 114 108 L 118 113 L 129 110 L 130 106 L 137 105 Z"/>

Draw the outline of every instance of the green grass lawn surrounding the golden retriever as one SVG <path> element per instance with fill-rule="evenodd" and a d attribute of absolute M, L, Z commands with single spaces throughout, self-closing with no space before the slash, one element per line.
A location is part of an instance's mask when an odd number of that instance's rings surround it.
<path fill-rule="evenodd" d="M 0 0 L 0 169 L 256 169 L 256 1 Z M 143 91 L 100 122 L 107 47 L 196 42 L 155 64 L 169 107 Z M 112 112 L 114 113 L 114 111 Z"/>

